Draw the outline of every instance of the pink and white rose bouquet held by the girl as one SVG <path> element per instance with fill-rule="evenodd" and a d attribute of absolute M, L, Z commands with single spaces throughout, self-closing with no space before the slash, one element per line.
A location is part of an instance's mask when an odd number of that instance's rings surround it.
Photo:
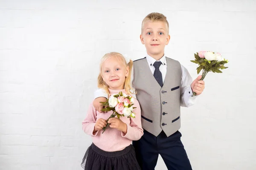
<path fill-rule="evenodd" d="M 113 94 L 109 97 L 109 99 L 106 100 L 106 102 L 100 102 L 103 106 L 106 106 L 102 109 L 102 111 L 113 111 L 111 116 L 108 118 L 108 120 L 112 117 L 117 116 L 119 119 L 121 116 L 127 116 L 127 117 L 133 117 L 135 118 L 135 114 L 133 113 L 133 110 L 136 107 L 132 107 L 134 105 L 134 98 L 132 96 L 128 96 L 127 94 L 122 93 L 122 91 L 119 92 L 119 94 Z M 107 120 L 107 122 L 108 122 Z M 106 127 L 103 127 L 103 132 L 107 129 L 109 126 L 109 123 L 106 125 Z"/>

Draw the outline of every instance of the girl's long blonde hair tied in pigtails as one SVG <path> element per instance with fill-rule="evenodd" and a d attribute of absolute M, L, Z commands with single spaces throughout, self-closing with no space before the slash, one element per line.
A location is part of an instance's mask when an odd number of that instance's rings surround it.
<path fill-rule="evenodd" d="M 99 76 L 98 76 L 98 88 L 102 88 L 104 89 L 108 95 L 110 94 L 108 88 L 109 86 L 106 84 L 106 82 L 103 81 L 103 78 L 102 78 L 102 64 L 109 58 L 111 57 L 115 57 L 116 59 L 118 59 L 120 62 L 122 62 L 122 64 L 125 65 L 125 68 L 127 66 L 129 66 L 129 75 L 128 77 L 125 77 L 125 91 L 128 95 L 131 95 L 131 94 L 135 94 L 134 92 L 131 92 L 131 69 L 132 69 L 132 66 L 133 66 L 133 61 L 130 59 L 130 61 L 126 62 L 125 60 L 125 57 L 120 54 L 120 53 L 117 53 L 117 52 L 110 52 L 110 53 L 107 53 L 105 54 L 102 59 L 101 59 L 101 62 L 100 62 L 100 66 L 99 66 Z"/>

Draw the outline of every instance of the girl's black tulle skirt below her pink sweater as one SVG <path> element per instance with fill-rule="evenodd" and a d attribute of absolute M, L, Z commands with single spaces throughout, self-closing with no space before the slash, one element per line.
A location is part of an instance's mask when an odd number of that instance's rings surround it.
<path fill-rule="evenodd" d="M 140 170 L 132 145 L 120 151 L 106 152 L 91 144 L 84 155 L 81 167 L 84 170 Z"/>

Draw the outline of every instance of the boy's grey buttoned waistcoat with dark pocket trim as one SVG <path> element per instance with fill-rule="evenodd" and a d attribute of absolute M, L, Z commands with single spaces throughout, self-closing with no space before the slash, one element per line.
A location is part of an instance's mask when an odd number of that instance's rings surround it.
<path fill-rule="evenodd" d="M 167 72 L 163 87 L 154 78 L 146 58 L 134 61 L 133 85 L 140 102 L 143 129 L 158 136 L 170 136 L 180 129 L 181 66 L 166 57 Z"/>

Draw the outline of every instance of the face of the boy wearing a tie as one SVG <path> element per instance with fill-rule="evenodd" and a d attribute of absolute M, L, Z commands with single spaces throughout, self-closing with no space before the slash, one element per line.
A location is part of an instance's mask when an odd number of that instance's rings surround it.
<path fill-rule="evenodd" d="M 170 40 L 166 23 L 161 21 L 145 22 L 140 40 L 142 44 L 145 44 L 148 55 L 154 59 L 160 59 L 163 57 L 165 45 Z"/>

